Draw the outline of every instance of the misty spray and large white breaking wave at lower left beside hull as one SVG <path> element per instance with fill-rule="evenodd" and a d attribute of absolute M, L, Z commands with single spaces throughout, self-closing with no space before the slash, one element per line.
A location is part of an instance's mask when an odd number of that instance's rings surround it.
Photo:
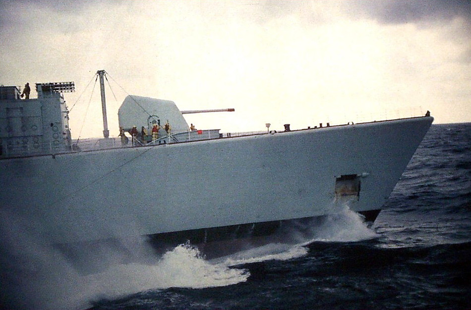
<path fill-rule="evenodd" d="M 210 263 L 189 244 L 173 248 L 154 264 L 116 264 L 84 275 L 59 250 L 40 245 L 17 228 L 11 227 L 9 245 L 1 248 L 1 254 L 8 257 L 1 260 L 0 293 L 6 296 L 7 304 L 0 309 L 84 309 L 97 299 L 170 287 L 227 286 L 244 282 L 249 276 L 245 269 Z M 88 254 L 83 252 L 82 258 Z M 118 257 L 121 253 L 109 254 Z"/>

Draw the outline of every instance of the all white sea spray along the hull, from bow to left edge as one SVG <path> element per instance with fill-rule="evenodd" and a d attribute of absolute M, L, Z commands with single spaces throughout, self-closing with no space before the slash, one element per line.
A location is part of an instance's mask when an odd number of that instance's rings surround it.
<path fill-rule="evenodd" d="M 70 257 L 32 237 L 21 219 L 2 214 L 1 232 L 3 245 L 6 245 L 2 252 L 8 253 L 8 258 L 3 258 L 8 261 L 2 271 L 6 270 L 6 277 L 11 280 L 7 285 L 14 286 L 18 293 L 13 303 L 22 309 L 83 309 L 90 307 L 94 300 L 148 290 L 234 285 L 250 277 L 249 271 L 240 265 L 303 257 L 308 254 L 305 246 L 312 242 L 352 242 L 376 237 L 363 219 L 348 207 L 321 221 L 304 224 L 302 232 L 297 230 L 299 226 L 291 227 L 291 242 L 270 242 L 211 260 L 190 244 L 179 245 L 156 259 L 145 239 L 122 240 L 118 247 L 100 248 L 104 261 L 115 264 L 85 274 L 75 268 Z M 145 262 L 126 263 L 129 253 L 152 257 Z M 75 258 L 93 260 L 93 254 L 83 251 Z M 8 290 L 2 280 L 2 290 Z"/>

